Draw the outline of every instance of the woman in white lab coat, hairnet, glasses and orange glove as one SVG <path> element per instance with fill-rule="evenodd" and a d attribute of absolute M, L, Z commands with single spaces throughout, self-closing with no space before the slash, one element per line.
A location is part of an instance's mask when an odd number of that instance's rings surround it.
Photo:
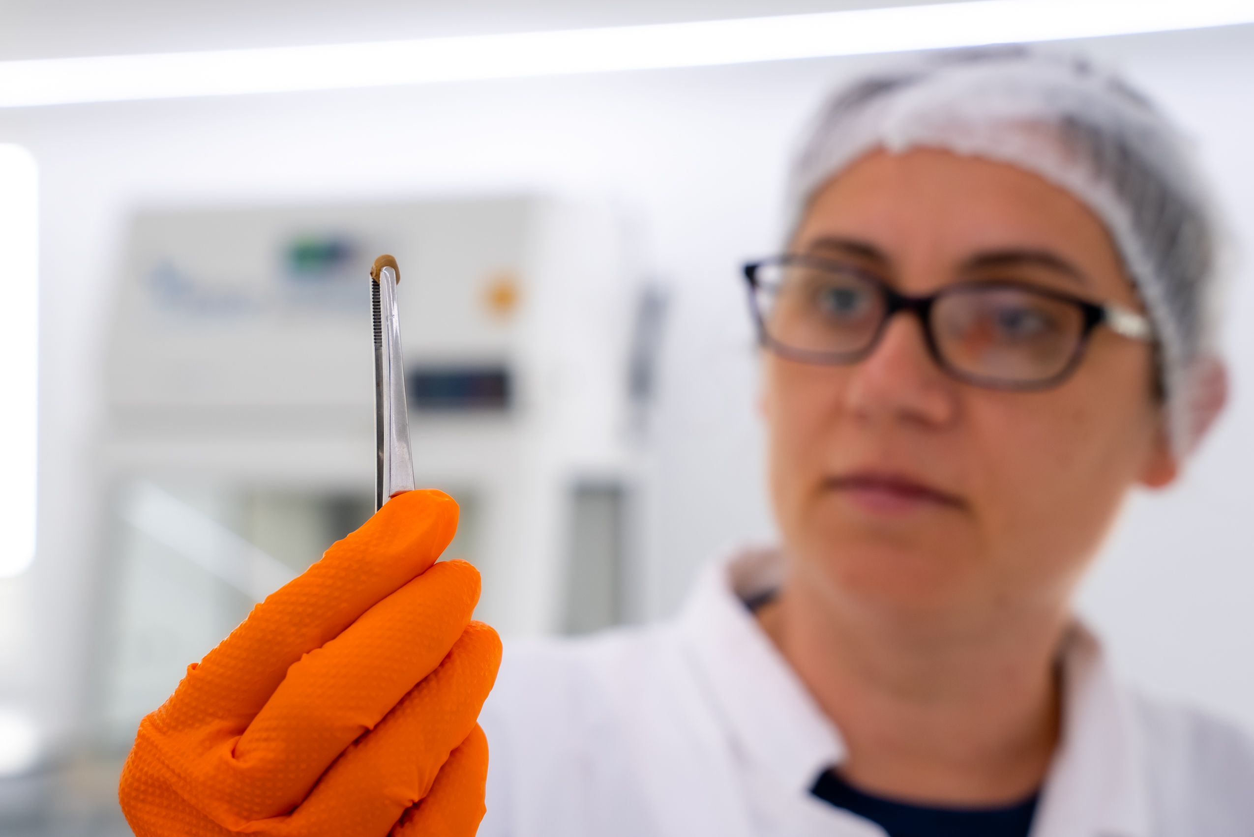
<path fill-rule="evenodd" d="M 1254 744 L 1117 685 L 1071 614 L 1224 402 L 1171 129 L 1082 61 L 967 53 L 838 95 L 793 188 L 746 268 L 782 545 L 670 624 L 512 647 L 480 833 L 1254 833 Z M 497 647 L 474 579 L 418 575 L 449 534 L 419 494 L 145 719 L 137 833 L 474 831 Z M 335 599 L 371 555 L 406 569 Z M 316 630 L 276 652 L 283 619 Z"/>

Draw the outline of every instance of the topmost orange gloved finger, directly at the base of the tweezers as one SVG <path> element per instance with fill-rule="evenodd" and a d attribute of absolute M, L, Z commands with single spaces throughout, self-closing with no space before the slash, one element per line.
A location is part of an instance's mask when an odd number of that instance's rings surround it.
<path fill-rule="evenodd" d="M 203 727 L 207 718 L 242 732 L 292 663 L 434 564 L 456 525 L 458 504 L 443 491 L 396 495 L 361 529 L 332 544 L 322 560 L 253 608 L 188 669 L 154 719 L 167 733 Z"/>

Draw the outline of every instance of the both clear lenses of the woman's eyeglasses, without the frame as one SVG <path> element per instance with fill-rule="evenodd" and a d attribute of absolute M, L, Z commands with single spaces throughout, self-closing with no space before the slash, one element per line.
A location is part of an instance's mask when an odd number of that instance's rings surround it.
<path fill-rule="evenodd" d="M 890 307 L 884 288 L 860 273 L 804 263 L 762 264 L 756 294 L 774 345 L 829 363 L 861 360 Z M 958 286 L 939 294 L 929 315 L 940 362 L 991 383 L 1031 386 L 1056 378 L 1085 337 L 1077 304 L 1022 287 Z"/>

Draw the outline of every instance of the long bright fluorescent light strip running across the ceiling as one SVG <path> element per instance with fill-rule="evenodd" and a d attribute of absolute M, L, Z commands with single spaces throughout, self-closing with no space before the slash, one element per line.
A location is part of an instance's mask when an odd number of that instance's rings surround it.
<path fill-rule="evenodd" d="M 1254 23 L 1254 0 L 976 0 L 612 29 L 3 61 L 0 107 L 714 66 L 1248 23 Z"/>

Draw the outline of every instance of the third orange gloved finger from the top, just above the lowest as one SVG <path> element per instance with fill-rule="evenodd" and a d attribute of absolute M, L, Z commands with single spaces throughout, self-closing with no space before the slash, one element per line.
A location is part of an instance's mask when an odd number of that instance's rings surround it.
<path fill-rule="evenodd" d="M 391 831 L 474 729 L 499 665 L 497 632 L 472 621 L 440 667 L 322 774 L 281 833 L 382 837 Z"/>

